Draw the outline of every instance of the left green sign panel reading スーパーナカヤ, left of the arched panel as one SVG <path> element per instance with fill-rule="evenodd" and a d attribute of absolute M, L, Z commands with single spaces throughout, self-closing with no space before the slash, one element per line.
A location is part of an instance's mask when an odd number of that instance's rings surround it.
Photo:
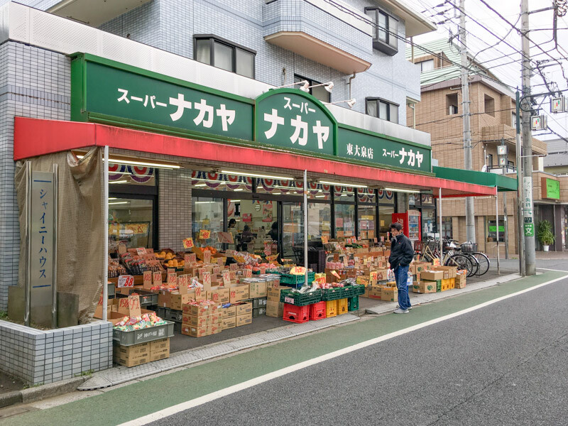
<path fill-rule="evenodd" d="M 72 119 L 151 124 L 245 140 L 252 139 L 253 103 L 214 89 L 80 55 L 72 61 Z"/>

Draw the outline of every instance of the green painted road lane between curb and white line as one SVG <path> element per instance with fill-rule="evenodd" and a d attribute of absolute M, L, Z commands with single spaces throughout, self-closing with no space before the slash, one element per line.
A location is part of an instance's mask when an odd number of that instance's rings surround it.
<path fill-rule="evenodd" d="M 567 273 L 550 271 L 542 275 L 417 306 L 408 315 L 384 315 L 343 327 L 327 329 L 324 332 L 290 339 L 224 359 L 213 360 L 183 371 L 133 383 L 48 410 L 9 417 L 4 422 L 0 422 L 0 425 L 117 425 L 277 371 L 280 368 L 564 276 L 568 276 Z"/>

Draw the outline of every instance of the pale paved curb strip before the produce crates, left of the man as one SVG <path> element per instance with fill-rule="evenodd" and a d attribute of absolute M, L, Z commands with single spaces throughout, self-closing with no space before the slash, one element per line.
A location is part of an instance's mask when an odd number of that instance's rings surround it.
<path fill-rule="evenodd" d="M 141 366 L 131 368 L 118 366 L 109 368 L 108 370 L 94 373 L 94 376 L 88 381 L 82 383 L 77 390 L 92 391 L 94 389 L 108 388 L 109 386 L 119 385 L 120 383 L 173 370 L 174 368 L 195 364 L 206 359 L 231 354 L 232 352 L 240 351 L 242 349 L 277 342 L 278 340 L 288 339 L 290 337 L 299 336 L 300 334 L 315 332 L 320 329 L 334 327 L 335 325 L 356 320 L 359 320 L 359 317 L 356 315 L 344 314 L 338 315 L 337 317 L 326 318 L 324 320 L 305 322 L 304 324 L 288 324 L 284 327 L 269 329 L 267 331 L 249 334 L 236 339 L 224 340 L 223 342 L 200 346 L 187 351 L 179 351 L 175 354 L 171 354 L 168 359 L 153 361 Z M 280 324 L 282 324 L 281 320 Z"/>

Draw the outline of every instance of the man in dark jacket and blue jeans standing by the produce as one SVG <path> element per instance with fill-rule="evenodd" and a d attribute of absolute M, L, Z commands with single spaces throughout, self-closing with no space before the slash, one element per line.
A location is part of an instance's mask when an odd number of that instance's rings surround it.
<path fill-rule="evenodd" d="M 398 288 L 398 306 L 395 314 L 408 314 L 408 310 L 413 307 L 410 305 L 410 297 L 408 297 L 408 266 L 413 261 L 414 249 L 413 244 L 408 236 L 403 234 L 403 225 L 399 223 L 389 226 L 391 235 L 391 256 L 388 262 L 391 263 L 391 269 L 395 273 L 396 287 Z"/>

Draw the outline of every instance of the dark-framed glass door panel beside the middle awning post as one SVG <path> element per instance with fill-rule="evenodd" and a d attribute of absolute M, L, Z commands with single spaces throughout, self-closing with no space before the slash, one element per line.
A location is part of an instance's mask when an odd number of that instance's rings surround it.
<path fill-rule="evenodd" d="M 304 262 L 304 209 L 301 202 L 282 202 L 282 258 Z"/>

